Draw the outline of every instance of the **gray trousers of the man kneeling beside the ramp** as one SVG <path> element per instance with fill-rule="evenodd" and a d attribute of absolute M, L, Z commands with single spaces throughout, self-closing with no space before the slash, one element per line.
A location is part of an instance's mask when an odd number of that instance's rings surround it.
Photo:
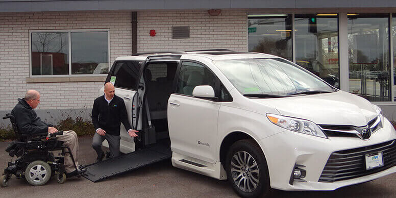
<path fill-rule="evenodd" d="M 102 142 L 105 141 L 105 139 L 109 142 L 111 157 L 119 156 L 119 140 L 121 139 L 121 136 L 109 135 L 107 133 L 104 136 L 101 136 L 95 133 L 92 139 L 92 147 L 96 151 L 97 159 L 100 159 L 103 155 Z"/>

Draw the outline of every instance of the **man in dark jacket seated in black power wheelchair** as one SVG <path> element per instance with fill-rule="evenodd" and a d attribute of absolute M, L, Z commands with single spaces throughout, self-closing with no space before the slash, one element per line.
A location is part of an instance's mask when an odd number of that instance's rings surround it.
<path fill-rule="evenodd" d="M 17 156 L 14 162 L 9 162 L 0 178 L 0 185 L 7 186 L 12 175 L 25 178 L 34 186 L 45 184 L 53 175 L 58 182 L 66 178 L 78 176 L 86 169 L 79 166 L 77 152 L 79 143 L 74 131 L 58 131 L 37 117 L 35 109 L 40 103 L 40 93 L 36 90 L 26 92 L 24 98 L 18 99 L 18 104 L 10 118 L 17 142 L 11 143 L 6 152 L 11 157 Z M 55 157 L 52 151 L 61 151 L 64 157 Z"/>

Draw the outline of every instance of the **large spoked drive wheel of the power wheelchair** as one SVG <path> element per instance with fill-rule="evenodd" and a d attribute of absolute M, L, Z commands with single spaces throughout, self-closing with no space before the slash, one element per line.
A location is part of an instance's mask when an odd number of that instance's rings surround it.
<path fill-rule="evenodd" d="M 33 161 L 26 167 L 24 176 L 30 185 L 44 185 L 51 178 L 51 166 L 41 160 Z"/>

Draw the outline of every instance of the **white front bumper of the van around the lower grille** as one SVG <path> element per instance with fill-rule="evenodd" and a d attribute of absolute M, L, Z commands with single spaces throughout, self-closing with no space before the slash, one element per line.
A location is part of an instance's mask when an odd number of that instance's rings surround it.
<path fill-rule="evenodd" d="M 320 175 L 333 152 L 375 145 L 396 139 L 396 132 L 388 120 L 383 128 L 375 132 L 369 140 L 354 137 L 329 137 L 284 131 L 261 139 L 269 170 L 272 188 L 281 190 L 335 190 L 337 188 L 375 180 L 396 172 L 396 166 L 371 175 L 335 182 L 318 182 Z M 295 164 L 305 166 L 306 182 L 289 183 Z"/>

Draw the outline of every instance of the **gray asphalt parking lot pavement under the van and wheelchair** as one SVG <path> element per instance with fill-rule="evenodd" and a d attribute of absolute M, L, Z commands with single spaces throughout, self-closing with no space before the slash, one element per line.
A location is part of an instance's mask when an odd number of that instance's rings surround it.
<path fill-rule="evenodd" d="M 96 154 L 91 137 L 80 138 L 80 163 L 93 163 Z M 5 152 L 9 142 L 0 142 L 0 168 L 11 159 Z M 396 174 L 375 181 L 343 187 L 335 191 L 281 191 L 271 197 L 394 197 Z M 93 183 L 73 178 L 64 184 L 51 179 L 44 186 L 30 186 L 13 176 L 8 187 L 0 188 L 0 197 L 237 197 L 227 181 L 174 168 L 170 160 L 143 167 L 121 176 Z"/>

